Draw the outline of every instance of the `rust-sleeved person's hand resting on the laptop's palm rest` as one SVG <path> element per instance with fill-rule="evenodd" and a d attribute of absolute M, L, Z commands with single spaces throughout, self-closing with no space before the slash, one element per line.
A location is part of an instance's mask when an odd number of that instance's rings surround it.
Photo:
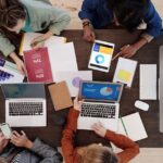
<path fill-rule="evenodd" d="M 103 125 L 100 122 L 95 123 L 91 128 L 100 137 L 103 138 L 105 136 L 106 129 L 103 127 Z"/>

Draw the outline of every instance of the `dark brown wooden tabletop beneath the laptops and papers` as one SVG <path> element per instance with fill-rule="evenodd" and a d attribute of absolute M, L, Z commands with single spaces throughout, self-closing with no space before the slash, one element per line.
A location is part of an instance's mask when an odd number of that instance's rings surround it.
<path fill-rule="evenodd" d="M 135 42 L 140 35 L 140 30 L 137 30 L 133 35 L 124 29 L 102 29 L 96 30 L 97 39 L 105 40 L 115 43 L 114 54 L 118 52 L 120 48 L 124 45 Z M 67 41 L 73 41 L 75 46 L 75 52 L 78 63 L 78 70 L 88 70 L 88 61 L 92 43 L 83 40 L 82 30 L 65 30 L 62 36 L 67 38 Z M 141 48 L 133 60 L 138 61 L 136 75 L 133 82 L 131 88 L 125 88 L 121 99 L 121 116 L 139 112 L 142 118 L 143 125 L 147 129 L 148 138 L 138 141 L 140 147 L 155 148 L 163 147 L 163 134 L 159 131 L 159 101 L 146 101 L 150 104 L 148 112 L 140 111 L 134 106 L 136 100 L 139 99 L 139 64 L 158 64 L 159 68 L 159 47 L 163 43 L 163 37 L 151 41 L 143 48 Z M 66 53 L 65 53 L 66 54 Z M 112 62 L 109 73 L 102 73 L 93 71 L 93 80 L 112 82 L 117 60 Z M 65 67 L 66 68 L 66 67 Z M 159 73 L 158 73 L 159 77 Z M 47 86 L 46 86 L 47 87 Z M 51 146 L 60 146 L 62 136 L 62 129 L 66 122 L 66 115 L 68 109 L 55 112 L 51 102 L 50 95 L 47 90 L 47 110 L 48 110 L 48 126 L 47 127 L 32 127 L 32 128 L 14 128 L 16 130 L 25 130 L 29 138 L 40 137 Z M 0 90 L 0 123 L 4 122 L 4 98 Z M 62 124 L 62 125 L 61 125 Z M 137 126 L 133 126 L 137 127 Z M 78 130 L 75 138 L 77 146 L 85 146 L 91 142 L 102 141 L 106 143 L 93 131 Z"/>

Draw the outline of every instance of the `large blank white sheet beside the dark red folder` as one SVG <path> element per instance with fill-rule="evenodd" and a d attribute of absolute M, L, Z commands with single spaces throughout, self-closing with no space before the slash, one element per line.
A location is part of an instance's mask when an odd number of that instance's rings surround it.
<path fill-rule="evenodd" d="M 78 71 L 73 42 L 67 42 L 55 47 L 51 46 L 49 47 L 48 51 L 54 82 L 57 72 Z"/>

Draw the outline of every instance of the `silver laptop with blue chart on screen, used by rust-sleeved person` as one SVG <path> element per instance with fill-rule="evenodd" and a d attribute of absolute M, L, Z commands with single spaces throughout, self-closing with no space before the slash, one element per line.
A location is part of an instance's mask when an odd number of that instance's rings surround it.
<path fill-rule="evenodd" d="M 122 91 L 123 84 L 83 80 L 79 98 L 85 101 L 77 128 L 91 130 L 92 124 L 101 122 L 105 128 L 116 131 Z"/>

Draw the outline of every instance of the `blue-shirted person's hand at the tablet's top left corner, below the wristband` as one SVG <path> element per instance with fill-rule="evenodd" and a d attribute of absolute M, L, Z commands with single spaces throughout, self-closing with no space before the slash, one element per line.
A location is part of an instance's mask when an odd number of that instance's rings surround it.
<path fill-rule="evenodd" d="M 92 42 L 95 41 L 96 35 L 90 26 L 84 27 L 84 39 L 87 41 L 92 41 Z"/>

